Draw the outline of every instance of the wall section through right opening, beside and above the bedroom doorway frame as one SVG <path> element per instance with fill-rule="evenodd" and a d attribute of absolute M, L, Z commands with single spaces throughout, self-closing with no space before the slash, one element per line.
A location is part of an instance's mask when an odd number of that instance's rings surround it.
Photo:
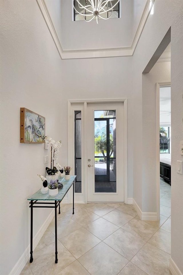
<path fill-rule="evenodd" d="M 142 212 L 156 209 L 156 83 L 170 82 L 170 62 L 142 74 Z"/>

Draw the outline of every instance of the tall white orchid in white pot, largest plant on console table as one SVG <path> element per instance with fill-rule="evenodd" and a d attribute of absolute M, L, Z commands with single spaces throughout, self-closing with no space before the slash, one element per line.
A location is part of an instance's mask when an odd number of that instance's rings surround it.
<path fill-rule="evenodd" d="M 59 152 L 59 148 L 61 147 L 61 140 L 58 140 L 57 142 L 55 142 L 55 140 L 53 140 L 51 137 L 45 137 L 45 142 L 50 144 L 50 151 L 51 151 L 51 161 L 50 161 L 50 168 L 46 167 L 46 172 L 47 172 L 47 181 L 48 183 L 51 182 L 52 180 L 56 180 L 57 179 L 57 173 L 58 170 L 57 168 L 54 166 L 54 160 L 56 161 L 58 159 L 58 152 Z"/>

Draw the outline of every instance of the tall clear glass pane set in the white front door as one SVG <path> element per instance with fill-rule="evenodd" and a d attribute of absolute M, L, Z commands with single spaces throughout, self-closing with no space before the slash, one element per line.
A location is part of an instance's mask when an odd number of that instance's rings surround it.
<path fill-rule="evenodd" d="M 116 111 L 94 111 L 95 192 L 116 192 Z"/>

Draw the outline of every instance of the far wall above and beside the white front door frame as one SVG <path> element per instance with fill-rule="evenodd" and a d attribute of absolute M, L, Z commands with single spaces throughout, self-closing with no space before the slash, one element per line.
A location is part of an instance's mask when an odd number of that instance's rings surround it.
<path fill-rule="evenodd" d="M 67 113 L 67 100 L 73 99 L 128 99 L 128 197 L 133 197 L 133 106 L 132 58 L 96 58 L 62 60 L 61 116 Z M 65 130 L 67 126 L 65 125 Z M 67 144 L 67 135 L 63 137 Z M 67 150 L 64 151 L 67 156 Z"/>

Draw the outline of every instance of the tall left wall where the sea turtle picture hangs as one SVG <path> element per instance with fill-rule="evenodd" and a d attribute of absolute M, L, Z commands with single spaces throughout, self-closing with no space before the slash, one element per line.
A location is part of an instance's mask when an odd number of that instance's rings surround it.
<path fill-rule="evenodd" d="M 3 0 L 0 10 L 0 270 L 8 275 L 30 244 L 27 198 L 41 188 L 37 174 L 45 175 L 50 158 L 44 144 L 20 144 L 20 107 L 44 116 L 46 134 L 61 138 L 61 59 L 36 1 Z M 34 209 L 33 236 L 50 212 Z"/>

